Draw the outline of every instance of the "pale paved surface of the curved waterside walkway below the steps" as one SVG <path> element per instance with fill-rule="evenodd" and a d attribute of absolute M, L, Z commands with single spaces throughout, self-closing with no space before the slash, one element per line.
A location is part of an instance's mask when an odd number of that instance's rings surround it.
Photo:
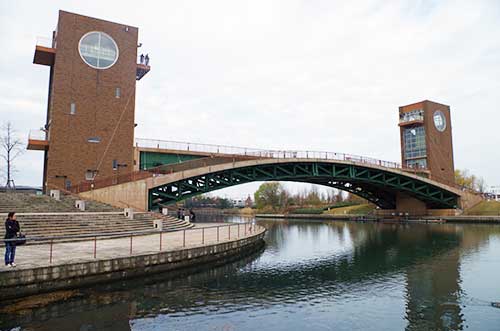
<path fill-rule="evenodd" d="M 229 227 L 228 225 L 231 226 Z M 249 224 L 196 223 L 195 228 L 185 231 L 165 232 L 161 235 L 160 233 L 155 233 L 133 237 L 132 245 L 130 237 L 97 239 L 96 242 L 94 242 L 94 240 L 88 240 L 54 243 L 52 245 L 52 263 L 50 263 L 50 244 L 26 245 L 17 247 L 16 269 L 30 269 L 49 265 L 107 260 L 131 255 L 158 253 L 160 250 L 162 252 L 172 251 L 183 247 L 196 247 L 215 244 L 217 242 L 228 242 L 230 240 L 251 236 L 262 230 L 263 228 L 258 225 L 252 225 L 250 229 Z M 0 272 L 10 270 L 12 270 L 12 268 L 7 268 L 3 266 L 3 264 L 0 267 Z"/>

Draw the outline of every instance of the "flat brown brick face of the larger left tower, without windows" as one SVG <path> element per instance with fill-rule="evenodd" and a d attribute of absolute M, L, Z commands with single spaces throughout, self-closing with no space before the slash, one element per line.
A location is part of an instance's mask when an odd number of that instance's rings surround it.
<path fill-rule="evenodd" d="M 81 58 L 79 41 L 90 31 L 105 32 L 118 45 L 112 67 L 94 69 Z M 98 170 L 97 178 L 111 176 L 116 173 L 113 160 L 127 164 L 120 172 L 133 170 L 137 38 L 135 27 L 59 12 L 45 169 L 49 186 L 64 186 L 63 176 L 77 184 L 87 170 Z M 120 98 L 115 97 L 117 87 Z M 90 137 L 101 142 L 89 143 Z"/>

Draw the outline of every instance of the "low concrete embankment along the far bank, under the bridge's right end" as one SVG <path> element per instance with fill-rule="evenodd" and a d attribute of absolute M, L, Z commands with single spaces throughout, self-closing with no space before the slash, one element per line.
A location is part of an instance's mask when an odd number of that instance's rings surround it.
<path fill-rule="evenodd" d="M 310 220 L 336 220 L 336 221 L 408 221 L 408 222 L 446 222 L 446 223 L 486 223 L 500 224 L 500 216 L 424 216 L 406 219 L 404 217 L 383 218 L 367 215 L 329 215 L 329 214 L 257 214 L 256 218 L 283 218 L 283 219 L 310 219 Z"/>

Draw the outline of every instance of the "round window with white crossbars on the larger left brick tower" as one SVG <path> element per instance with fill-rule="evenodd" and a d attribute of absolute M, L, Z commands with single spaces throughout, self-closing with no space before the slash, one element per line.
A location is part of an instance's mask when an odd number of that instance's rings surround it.
<path fill-rule="evenodd" d="M 104 32 L 92 31 L 85 34 L 80 39 L 78 51 L 83 61 L 95 69 L 108 69 L 118 60 L 118 46 Z"/>

